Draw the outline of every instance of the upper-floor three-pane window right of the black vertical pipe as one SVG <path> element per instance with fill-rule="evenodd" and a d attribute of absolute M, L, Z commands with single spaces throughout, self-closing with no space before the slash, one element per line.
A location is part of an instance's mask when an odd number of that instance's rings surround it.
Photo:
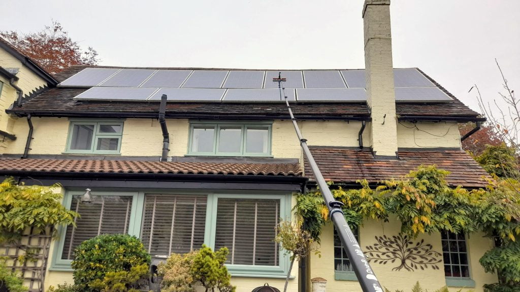
<path fill-rule="evenodd" d="M 188 154 L 268 156 L 270 124 L 191 124 Z"/>

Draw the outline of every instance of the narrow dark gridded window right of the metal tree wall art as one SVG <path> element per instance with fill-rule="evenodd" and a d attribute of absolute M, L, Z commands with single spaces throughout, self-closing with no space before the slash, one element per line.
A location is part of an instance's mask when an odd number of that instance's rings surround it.
<path fill-rule="evenodd" d="M 452 287 L 475 287 L 470 278 L 466 239 L 463 233 L 441 233 L 446 284 Z"/>

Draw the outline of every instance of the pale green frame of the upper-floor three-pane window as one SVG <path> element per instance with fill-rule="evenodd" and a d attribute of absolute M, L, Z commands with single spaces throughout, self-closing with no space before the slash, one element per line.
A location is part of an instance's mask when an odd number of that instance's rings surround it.
<path fill-rule="evenodd" d="M 194 147 L 194 131 L 196 129 L 210 129 L 213 130 L 213 138 L 211 151 L 197 151 L 193 150 Z M 235 152 L 224 152 L 219 151 L 219 141 L 220 141 L 220 132 L 223 129 L 231 128 L 231 129 L 240 129 L 240 144 L 237 145 L 240 147 L 239 151 Z M 255 129 L 267 129 L 267 141 L 265 145 L 265 152 L 248 152 L 248 130 Z M 189 140 L 188 140 L 188 155 L 198 155 L 198 156 L 260 156 L 260 157 L 270 157 L 271 156 L 271 141 L 272 141 L 272 122 L 249 122 L 249 123 L 240 123 L 240 122 L 219 122 L 219 123 L 200 123 L 193 122 L 190 123 L 189 128 Z"/>

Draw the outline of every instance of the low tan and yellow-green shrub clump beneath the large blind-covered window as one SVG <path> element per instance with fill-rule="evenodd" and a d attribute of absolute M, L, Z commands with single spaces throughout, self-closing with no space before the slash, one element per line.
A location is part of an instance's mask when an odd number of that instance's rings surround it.
<path fill-rule="evenodd" d="M 206 292 L 215 289 L 235 292 L 236 287 L 231 285 L 231 275 L 224 265 L 228 254 L 227 247 L 213 251 L 206 245 L 184 255 L 172 254 L 158 268 L 162 277 L 161 291 L 192 292 L 202 285 Z"/>

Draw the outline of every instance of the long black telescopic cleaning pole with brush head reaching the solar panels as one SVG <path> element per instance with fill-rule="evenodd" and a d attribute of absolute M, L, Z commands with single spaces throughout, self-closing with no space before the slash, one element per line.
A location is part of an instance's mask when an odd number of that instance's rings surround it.
<path fill-rule="evenodd" d="M 363 254 L 356 237 L 354 237 L 352 230 L 350 230 L 350 227 L 345 220 L 343 211 L 341 209 L 341 206 L 344 204 L 334 200 L 334 196 L 332 196 L 327 182 L 325 182 L 325 179 L 323 179 L 321 171 L 318 168 L 316 161 L 314 161 L 313 155 L 309 151 L 307 140 L 303 138 L 300 127 L 298 127 L 298 124 L 296 123 L 296 118 L 293 115 L 291 105 L 287 100 L 287 96 L 285 96 L 285 88 L 281 85 L 282 82 L 285 81 L 285 78 L 282 78 L 281 73 L 278 73 L 278 78 L 273 78 L 272 81 L 278 82 L 278 88 L 280 88 L 280 98 L 285 99 L 285 104 L 287 104 L 287 109 L 291 115 L 294 130 L 296 130 L 296 135 L 298 136 L 298 139 L 300 139 L 300 145 L 302 146 L 303 152 L 305 153 L 307 161 L 309 162 L 310 169 L 313 171 L 316 182 L 318 183 L 318 186 L 321 190 L 323 200 L 329 208 L 329 216 L 332 219 L 334 227 L 340 236 L 343 248 L 345 249 L 348 259 L 354 267 L 354 272 L 356 273 L 359 285 L 361 285 L 361 289 L 363 292 L 383 292 L 381 284 L 379 284 L 378 279 L 375 277 L 374 271 L 370 267 L 370 264 L 368 263 L 365 254 Z"/>

